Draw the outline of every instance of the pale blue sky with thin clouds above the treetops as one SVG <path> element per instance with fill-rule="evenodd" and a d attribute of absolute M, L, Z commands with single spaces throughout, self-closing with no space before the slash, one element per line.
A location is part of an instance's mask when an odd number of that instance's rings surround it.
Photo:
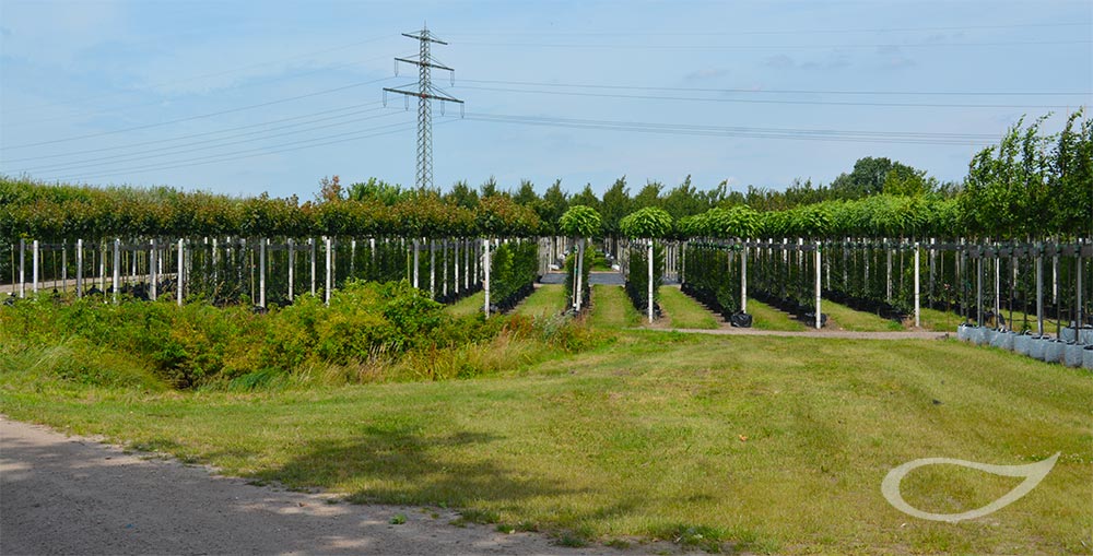
<path fill-rule="evenodd" d="M 1022 115 L 1093 104 L 1093 2 L 0 0 L 0 173 L 310 199 L 412 185 L 381 104 L 426 23 L 435 184 L 780 189 L 862 156 L 959 180 Z"/>

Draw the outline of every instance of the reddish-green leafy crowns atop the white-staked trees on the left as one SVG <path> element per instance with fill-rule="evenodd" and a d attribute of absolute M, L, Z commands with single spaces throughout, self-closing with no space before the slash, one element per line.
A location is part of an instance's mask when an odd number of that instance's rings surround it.
<path fill-rule="evenodd" d="M 295 197 L 239 199 L 0 177 L 0 234 L 49 241 L 142 236 L 528 237 L 540 226 L 536 211 L 505 196 L 471 203 L 369 180 L 350 186 L 345 197 L 330 189 L 334 185 L 330 182 L 319 202 L 301 204 Z"/>

